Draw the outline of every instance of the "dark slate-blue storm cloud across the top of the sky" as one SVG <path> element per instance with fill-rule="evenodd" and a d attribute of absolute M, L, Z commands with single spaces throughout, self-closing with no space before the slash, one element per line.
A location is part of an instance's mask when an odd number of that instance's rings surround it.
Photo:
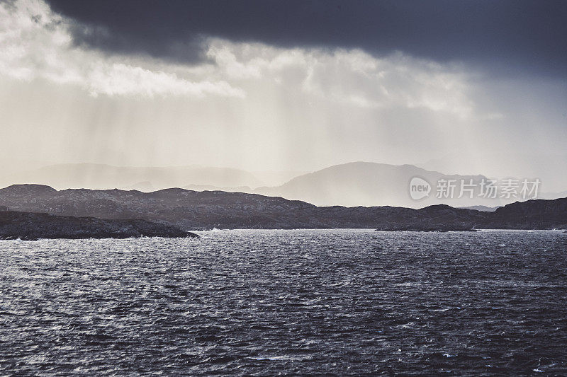
<path fill-rule="evenodd" d="M 91 25 L 76 42 L 193 62 L 199 38 L 400 50 L 437 61 L 566 75 L 567 1 L 50 0 Z"/>

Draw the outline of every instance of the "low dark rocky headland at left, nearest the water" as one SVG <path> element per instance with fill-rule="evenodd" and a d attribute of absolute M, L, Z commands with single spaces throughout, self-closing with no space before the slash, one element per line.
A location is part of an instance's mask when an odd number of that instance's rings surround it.
<path fill-rule="evenodd" d="M 138 237 L 194 238 L 198 236 L 175 226 L 140 219 L 105 220 L 94 217 L 54 216 L 0 210 L 0 239 L 4 240 Z"/>

